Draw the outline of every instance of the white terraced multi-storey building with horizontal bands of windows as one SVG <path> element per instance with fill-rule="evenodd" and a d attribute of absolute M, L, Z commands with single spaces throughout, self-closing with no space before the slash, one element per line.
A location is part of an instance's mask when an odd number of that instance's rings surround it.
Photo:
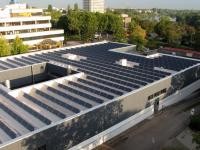
<path fill-rule="evenodd" d="M 42 9 L 28 8 L 14 0 L 0 10 L 0 35 L 9 42 L 18 36 L 27 45 L 35 45 L 45 39 L 64 41 L 63 30 L 52 30 L 51 17 L 44 16 Z"/>

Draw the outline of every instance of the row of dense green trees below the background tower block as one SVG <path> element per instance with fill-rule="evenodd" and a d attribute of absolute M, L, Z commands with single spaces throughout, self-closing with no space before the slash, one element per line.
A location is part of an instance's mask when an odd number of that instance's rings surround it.
<path fill-rule="evenodd" d="M 64 29 L 66 36 L 78 36 L 83 41 L 93 40 L 96 33 L 112 35 L 116 41 L 125 40 L 122 18 L 113 13 L 70 10 L 59 18 L 57 27 Z"/>

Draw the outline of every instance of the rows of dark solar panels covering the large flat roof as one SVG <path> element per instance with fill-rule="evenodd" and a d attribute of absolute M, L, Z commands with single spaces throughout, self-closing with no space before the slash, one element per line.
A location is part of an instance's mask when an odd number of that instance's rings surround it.
<path fill-rule="evenodd" d="M 0 60 L 0 71 L 55 61 L 77 68 L 86 75 L 63 83 L 54 81 L 52 85 L 43 85 L 42 89 L 33 87 L 28 93 L 21 91 L 17 97 L 12 97 L 0 88 L 0 143 L 171 75 L 168 72 L 155 70 L 154 67 L 180 71 L 198 63 L 167 55 L 148 59 L 109 51 L 125 46 L 104 43 Z M 62 57 L 68 53 L 84 56 L 87 59 L 75 61 Z M 116 61 L 124 58 L 139 63 L 139 66 L 129 68 L 116 64 Z"/>

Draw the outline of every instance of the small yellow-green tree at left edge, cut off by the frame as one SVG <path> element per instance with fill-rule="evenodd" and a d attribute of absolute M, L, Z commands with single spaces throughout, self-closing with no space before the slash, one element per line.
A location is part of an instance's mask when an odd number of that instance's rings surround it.
<path fill-rule="evenodd" d="M 0 37 L 0 57 L 10 55 L 10 46 L 5 38 Z"/>

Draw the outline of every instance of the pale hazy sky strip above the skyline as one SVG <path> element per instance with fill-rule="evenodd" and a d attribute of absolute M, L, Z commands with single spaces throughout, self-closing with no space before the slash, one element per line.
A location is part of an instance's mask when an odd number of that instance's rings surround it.
<path fill-rule="evenodd" d="M 58 8 L 67 8 L 67 5 L 78 3 L 82 7 L 82 0 L 19 0 L 31 6 L 47 7 L 52 4 Z M 9 0 L 0 0 L 0 7 L 8 4 Z M 169 8 L 169 9 L 198 9 L 200 0 L 106 0 L 109 8 Z"/>

